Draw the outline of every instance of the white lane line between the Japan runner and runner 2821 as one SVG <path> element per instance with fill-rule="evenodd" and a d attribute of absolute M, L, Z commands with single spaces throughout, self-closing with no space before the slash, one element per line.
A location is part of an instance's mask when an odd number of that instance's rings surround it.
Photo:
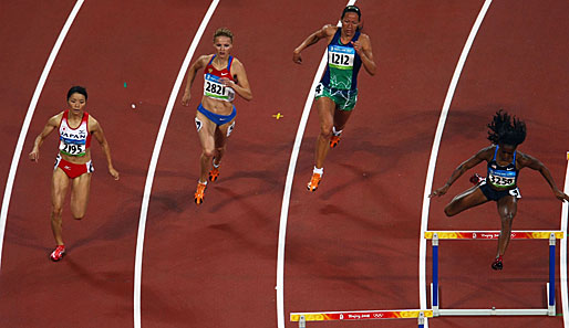
<path fill-rule="evenodd" d="M 189 45 L 189 50 L 186 54 L 186 59 L 179 68 L 178 77 L 174 83 L 174 87 L 172 88 L 172 93 L 168 99 L 168 104 L 166 105 L 166 109 L 164 112 L 164 116 L 162 117 L 161 128 L 158 130 L 158 136 L 156 137 L 156 142 L 154 144 L 154 150 L 152 152 L 151 165 L 148 166 L 148 173 L 146 176 L 146 183 L 144 186 L 144 195 L 143 202 L 141 205 L 141 219 L 138 221 L 138 236 L 136 239 L 136 258 L 134 262 L 134 327 L 141 328 L 141 285 L 142 285 L 142 260 L 143 260 L 143 250 L 144 250 L 144 234 L 146 231 L 146 216 L 148 214 L 148 204 L 151 201 L 151 192 L 152 184 L 154 182 L 154 173 L 156 172 L 156 165 L 158 163 L 158 157 L 162 149 L 162 144 L 164 141 L 164 136 L 166 135 L 166 128 L 168 126 L 169 117 L 172 114 L 172 109 L 174 108 L 174 103 L 178 96 L 179 88 L 182 86 L 182 82 L 184 81 L 184 76 L 186 71 L 188 70 L 189 62 L 192 56 L 194 56 L 194 52 L 206 30 L 214 11 L 217 8 L 219 0 L 213 0 L 209 9 L 204 17 L 204 20 L 199 24 L 199 29 L 197 30 L 192 44 Z"/>

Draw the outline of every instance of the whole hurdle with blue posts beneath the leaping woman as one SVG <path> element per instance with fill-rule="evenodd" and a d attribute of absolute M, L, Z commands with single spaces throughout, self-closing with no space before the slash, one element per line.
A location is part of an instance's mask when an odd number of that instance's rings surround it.
<path fill-rule="evenodd" d="M 531 309 L 442 309 L 438 301 L 438 242 L 439 240 L 497 240 L 499 231 L 426 231 L 424 237 L 433 247 L 433 282 L 431 307 L 433 316 L 555 316 L 556 241 L 563 239 L 562 231 L 513 231 L 513 240 L 549 240 L 549 283 L 546 284 L 547 308 Z"/>

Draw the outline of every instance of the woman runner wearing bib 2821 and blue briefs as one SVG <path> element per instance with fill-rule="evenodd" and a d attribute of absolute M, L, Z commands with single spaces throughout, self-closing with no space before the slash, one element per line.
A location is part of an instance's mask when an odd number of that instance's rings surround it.
<path fill-rule="evenodd" d="M 226 150 L 227 138 L 235 127 L 237 112 L 234 106 L 237 93 L 246 100 L 252 99 L 251 88 L 245 67 L 230 55 L 234 47 L 234 34 L 228 29 L 218 29 L 214 33 L 215 54 L 200 56 L 188 70 L 188 78 L 182 104 L 189 105 L 190 88 L 196 73 L 204 68 L 204 96 L 197 107 L 196 128 L 201 144 L 200 174 L 194 200 L 196 204 L 204 201 L 209 180 L 216 181 L 219 165 Z"/>

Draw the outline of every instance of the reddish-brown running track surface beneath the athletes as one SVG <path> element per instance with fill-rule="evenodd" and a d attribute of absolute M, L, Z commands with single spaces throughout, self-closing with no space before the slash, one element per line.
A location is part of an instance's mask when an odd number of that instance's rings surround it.
<path fill-rule="evenodd" d="M 306 183 L 318 121 L 315 115 L 309 119 L 289 212 L 287 317 L 290 311 L 418 307 L 418 235 L 428 155 L 448 83 L 482 3 L 358 3 L 379 74 L 370 77 L 362 72 L 356 112 L 342 144 L 329 154 L 324 180 L 313 194 Z M 49 8 L 28 3 L 33 23 L 25 25 L 18 19 L 20 8 L 2 6 L 7 23 L 0 40 L 13 50 L 2 53 L 7 60 L 0 63 L 2 76 L 11 77 L 0 82 L 2 105 L 11 109 L 0 112 L 0 181 L 6 182 L 24 110 L 73 1 Z M 83 4 L 48 78 L 18 168 L 0 273 L 0 326 L 133 326 L 134 250 L 146 170 L 174 78 L 208 6 L 89 0 Z M 174 107 L 146 228 L 143 327 L 276 326 L 282 190 L 300 112 L 324 45 L 304 51 L 301 66 L 292 63 L 291 52 L 310 32 L 335 22 L 343 6 L 344 1 L 323 0 L 219 4 L 196 56 L 213 51 L 216 28 L 234 30 L 234 54 L 247 68 L 254 100 L 236 102 L 237 128 L 220 179 L 208 187 L 199 208 L 192 201 L 199 156 L 193 127 L 199 78 L 190 107 L 179 102 Z M 566 130 L 567 9 L 560 1 L 490 6 L 451 107 L 435 186 L 486 145 L 485 124 L 499 105 L 527 120 L 528 139 L 520 150 L 544 160 L 562 186 L 567 147 L 562 141 L 550 144 L 546 136 L 562 140 Z M 22 30 L 27 38 L 15 38 L 13 30 Z M 48 117 L 63 108 L 64 93 L 75 83 L 90 91 L 87 110 L 105 128 L 122 178 L 113 181 L 101 152 L 93 151 L 96 172 L 87 216 L 74 222 L 65 212 L 70 253 L 53 264 L 48 260 L 53 244 L 48 218 L 55 137 L 44 144 L 40 163 L 30 163 L 25 155 Z M 135 110 L 130 108 L 133 102 L 138 102 Z M 284 118 L 273 119 L 277 112 Z M 520 181 L 524 200 L 515 229 L 558 229 L 560 207 L 547 184 L 527 171 Z M 452 193 L 466 186 L 466 179 L 457 181 Z M 442 208 L 448 200 L 432 202 L 430 229 L 497 229 L 492 205 L 444 218 Z M 541 293 L 547 257 L 531 243 L 513 242 L 506 271 L 499 274 L 488 268 L 494 243 L 443 245 L 443 304 L 477 307 L 493 299 L 507 307 L 540 307 L 542 299 L 529 294 Z M 315 325 L 351 324 L 310 326 Z M 430 325 L 562 327 L 562 321 L 437 318 Z"/>

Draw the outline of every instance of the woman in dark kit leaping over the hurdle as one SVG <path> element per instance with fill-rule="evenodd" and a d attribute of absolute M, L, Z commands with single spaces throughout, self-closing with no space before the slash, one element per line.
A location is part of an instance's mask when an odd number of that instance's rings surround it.
<path fill-rule="evenodd" d="M 492 268 L 501 269 L 504 267 L 501 257 L 506 253 L 510 240 L 511 222 L 516 216 L 517 201 L 521 198 L 517 187 L 519 170 L 530 168 L 539 171 L 559 200 L 569 200 L 569 195 L 556 187 L 551 173 L 541 161 L 516 150 L 518 145 L 526 139 L 526 124 L 524 121 L 516 117 L 511 118 L 500 109 L 494 116 L 493 121 L 488 124 L 488 139 L 493 145 L 480 149 L 468 160 L 461 163 L 453 171 L 446 184 L 433 191 L 430 197 L 445 194 L 451 184 L 464 172 L 482 161 L 488 163 L 487 178 L 477 179 L 477 176 L 474 176 L 474 180 L 470 179 L 470 181 L 475 182 L 476 186 L 456 195 L 446 205 L 445 214 L 453 216 L 487 201 L 495 201 L 498 205 L 501 230 L 498 239 L 498 252 Z"/>

